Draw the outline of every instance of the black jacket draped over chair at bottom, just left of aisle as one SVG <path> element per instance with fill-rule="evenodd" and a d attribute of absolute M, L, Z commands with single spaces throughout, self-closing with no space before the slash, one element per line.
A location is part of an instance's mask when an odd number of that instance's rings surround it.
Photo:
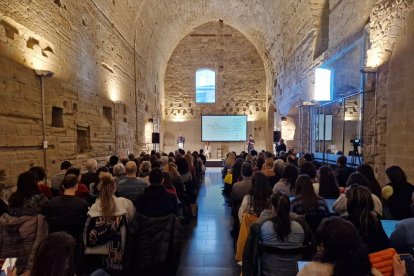
<path fill-rule="evenodd" d="M 181 253 L 183 228 L 176 216 L 131 221 L 124 253 L 125 275 L 175 275 Z"/>

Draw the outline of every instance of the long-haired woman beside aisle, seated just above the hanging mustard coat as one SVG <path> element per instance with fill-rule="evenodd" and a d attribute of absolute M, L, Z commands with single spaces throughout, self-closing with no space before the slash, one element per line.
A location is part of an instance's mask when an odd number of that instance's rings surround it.
<path fill-rule="evenodd" d="M 269 209 L 272 190 L 269 187 L 267 177 L 261 172 L 255 172 L 252 177 L 252 189 L 244 196 L 239 209 L 239 220 L 244 213 L 250 213 L 257 217 L 264 209 Z"/>

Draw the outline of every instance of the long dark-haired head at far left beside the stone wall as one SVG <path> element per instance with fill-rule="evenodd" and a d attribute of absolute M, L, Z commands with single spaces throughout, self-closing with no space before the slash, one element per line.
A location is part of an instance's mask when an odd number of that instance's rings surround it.
<path fill-rule="evenodd" d="M 17 190 L 10 195 L 9 206 L 21 207 L 26 199 L 40 194 L 37 181 L 37 175 L 33 172 L 21 173 L 17 179 Z"/>

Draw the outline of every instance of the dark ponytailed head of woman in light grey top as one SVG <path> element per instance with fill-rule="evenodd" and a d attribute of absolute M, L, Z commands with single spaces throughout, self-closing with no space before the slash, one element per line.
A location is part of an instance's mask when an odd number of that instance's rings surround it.
<path fill-rule="evenodd" d="M 279 240 L 283 241 L 291 232 L 290 228 L 290 200 L 281 192 L 271 196 L 271 202 L 276 216 L 272 219 L 273 227 Z"/>

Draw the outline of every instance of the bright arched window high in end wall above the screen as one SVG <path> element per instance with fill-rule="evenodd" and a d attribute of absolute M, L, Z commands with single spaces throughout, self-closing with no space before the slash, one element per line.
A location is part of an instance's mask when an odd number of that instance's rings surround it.
<path fill-rule="evenodd" d="M 216 102 L 216 72 L 199 69 L 196 72 L 196 103 Z"/>

